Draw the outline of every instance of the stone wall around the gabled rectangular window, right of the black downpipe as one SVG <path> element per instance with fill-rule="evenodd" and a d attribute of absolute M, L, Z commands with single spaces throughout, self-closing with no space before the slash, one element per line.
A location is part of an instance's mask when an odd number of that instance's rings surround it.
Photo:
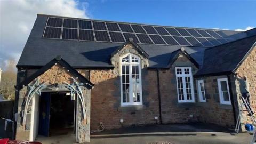
<path fill-rule="evenodd" d="M 159 71 L 162 121 L 165 124 L 198 121 L 199 113 L 195 102 L 178 103 L 175 67 L 191 67 L 193 74 L 197 71 L 194 64 L 183 54 L 177 58 L 170 69 Z"/>

